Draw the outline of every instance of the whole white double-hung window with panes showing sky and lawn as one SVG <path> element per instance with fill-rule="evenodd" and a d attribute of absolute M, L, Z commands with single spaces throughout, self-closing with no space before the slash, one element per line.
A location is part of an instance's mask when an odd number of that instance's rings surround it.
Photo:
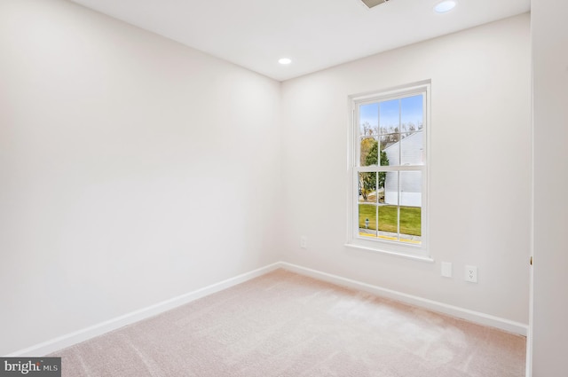
<path fill-rule="evenodd" d="M 430 83 L 351 101 L 348 245 L 427 259 Z"/>

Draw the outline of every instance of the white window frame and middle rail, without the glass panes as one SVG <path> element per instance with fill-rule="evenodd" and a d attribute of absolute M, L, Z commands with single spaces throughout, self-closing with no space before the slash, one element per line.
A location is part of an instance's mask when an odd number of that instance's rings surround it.
<path fill-rule="evenodd" d="M 413 95 L 423 95 L 423 117 L 422 117 L 422 145 L 425 149 L 423 153 L 422 165 L 413 165 L 411 168 L 405 168 L 404 165 L 393 167 L 380 167 L 381 171 L 395 170 L 404 171 L 411 169 L 422 172 L 422 234 L 421 244 L 414 245 L 412 243 L 398 240 L 370 239 L 359 235 L 359 172 L 377 171 L 377 167 L 360 167 L 359 166 L 359 106 L 382 102 L 390 99 L 411 97 Z M 367 251 L 386 253 L 390 255 L 400 255 L 412 259 L 433 262 L 430 258 L 428 247 L 428 171 L 430 164 L 430 80 L 424 82 L 415 82 L 410 85 L 404 85 L 389 90 L 380 90 L 373 93 L 358 94 L 349 96 L 350 115 L 349 115 L 349 162 L 348 162 L 348 247 L 357 247 Z"/>

